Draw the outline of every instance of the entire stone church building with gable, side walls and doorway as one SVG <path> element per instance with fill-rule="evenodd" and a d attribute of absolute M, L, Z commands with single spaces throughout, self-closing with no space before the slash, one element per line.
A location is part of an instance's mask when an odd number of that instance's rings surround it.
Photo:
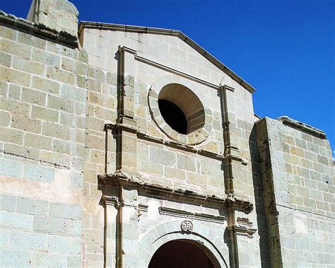
<path fill-rule="evenodd" d="M 335 267 L 324 132 L 180 31 L 0 23 L 0 267 Z"/>

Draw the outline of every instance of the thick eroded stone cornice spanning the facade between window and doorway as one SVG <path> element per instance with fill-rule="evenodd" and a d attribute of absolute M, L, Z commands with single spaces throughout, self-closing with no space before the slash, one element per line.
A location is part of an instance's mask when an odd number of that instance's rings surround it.
<path fill-rule="evenodd" d="M 237 197 L 235 194 L 225 195 L 223 197 L 215 194 L 201 194 L 188 189 L 176 189 L 167 185 L 160 185 L 156 182 L 150 182 L 146 177 L 140 175 L 129 175 L 120 170 L 112 174 L 98 175 L 105 185 L 114 185 L 136 189 L 143 194 L 159 199 L 169 199 L 173 201 L 192 202 L 194 204 L 214 205 L 218 207 L 232 207 L 235 210 L 249 214 L 253 209 L 253 204 L 247 199 Z"/>

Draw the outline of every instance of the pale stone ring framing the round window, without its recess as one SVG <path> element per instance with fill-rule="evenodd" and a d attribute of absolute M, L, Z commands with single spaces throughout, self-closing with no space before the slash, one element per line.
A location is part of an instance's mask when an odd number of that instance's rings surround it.
<path fill-rule="evenodd" d="M 164 120 L 163 116 L 160 113 L 158 107 L 158 95 L 164 86 L 168 84 L 180 84 L 188 88 L 197 98 L 201 101 L 201 104 L 204 106 L 204 126 L 200 129 L 196 129 L 194 132 L 189 134 L 180 134 L 172 129 Z M 192 81 L 187 80 L 175 75 L 161 76 L 158 78 L 149 89 L 148 93 L 148 106 L 151 112 L 151 117 L 157 126 L 162 132 L 164 132 L 170 139 L 179 141 L 182 144 L 200 144 L 205 141 L 212 129 L 212 112 L 209 108 L 206 97 L 204 94 L 196 87 L 196 84 Z"/>

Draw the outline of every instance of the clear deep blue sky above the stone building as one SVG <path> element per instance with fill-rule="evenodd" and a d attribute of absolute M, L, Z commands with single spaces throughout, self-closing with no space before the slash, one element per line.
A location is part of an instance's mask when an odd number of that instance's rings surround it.
<path fill-rule="evenodd" d="M 326 132 L 335 154 L 335 1 L 73 0 L 81 21 L 182 30 L 249 82 L 261 117 Z M 30 1 L 1 0 L 19 17 Z"/>

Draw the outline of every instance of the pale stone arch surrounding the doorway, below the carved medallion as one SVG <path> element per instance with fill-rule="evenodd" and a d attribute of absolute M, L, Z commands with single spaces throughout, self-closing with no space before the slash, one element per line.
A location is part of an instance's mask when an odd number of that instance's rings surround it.
<path fill-rule="evenodd" d="M 228 247 L 220 239 L 213 229 L 207 226 L 194 223 L 195 231 L 184 233 L 180 230 L 182 221 L 169 221 L 154 228 L 149 229 L 143 234 L 138 247 L 138 267 L 148 267 L 151 258 L 158 248 L 173 240 L 186 240 L 197 243 L 206 252 L 215 267 L 228 267 L 223 252 L 228 255 Z"/>

